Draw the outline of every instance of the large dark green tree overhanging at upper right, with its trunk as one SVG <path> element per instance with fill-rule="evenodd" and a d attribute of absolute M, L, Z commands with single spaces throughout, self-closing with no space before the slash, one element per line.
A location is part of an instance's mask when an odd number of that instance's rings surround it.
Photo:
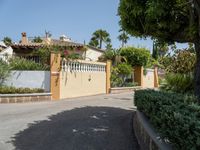
<path fill-rule="evenodd" d="M 122 29 L 130 35 L 194 43 L 195 94 L 200 102 L 200 1 L 120 0 L 118 14 Z"/>

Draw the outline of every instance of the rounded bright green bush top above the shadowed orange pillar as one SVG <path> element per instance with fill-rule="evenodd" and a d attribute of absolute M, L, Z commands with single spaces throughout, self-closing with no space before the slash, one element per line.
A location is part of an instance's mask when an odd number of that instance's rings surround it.
<path fill-rule="evenodd" d="M 132 66 L 146 66 L 150 59 L 150 51 L 145 48 L 126 47 L 121 49 L 124 56 Z"/>

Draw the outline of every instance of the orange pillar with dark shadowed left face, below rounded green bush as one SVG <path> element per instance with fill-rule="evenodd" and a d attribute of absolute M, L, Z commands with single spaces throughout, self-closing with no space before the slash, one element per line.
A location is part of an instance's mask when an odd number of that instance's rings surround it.
<path fill-rule="evenodd" d="M 134 81 L 138 83 L 138 86 L 143 87 L 143 66 L 136 66 L 134 67 Z"/>

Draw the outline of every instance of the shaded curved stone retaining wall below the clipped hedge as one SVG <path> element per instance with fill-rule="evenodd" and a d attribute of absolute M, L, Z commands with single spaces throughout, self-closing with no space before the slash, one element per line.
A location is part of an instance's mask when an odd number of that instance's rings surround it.
<path fill-rule="evenodd" d="M 141 150 L 172 150 L 171 145 L 160 139 L 148 119 L 139 111 L 134 113 L 133 128 Z"/>

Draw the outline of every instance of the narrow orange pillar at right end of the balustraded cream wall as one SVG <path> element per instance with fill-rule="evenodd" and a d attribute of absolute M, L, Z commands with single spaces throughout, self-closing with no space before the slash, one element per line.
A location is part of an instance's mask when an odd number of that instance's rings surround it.
<path fill-rule="evenodd" d="M 106 94 L 110 93 L 110 77 L 111 77 L 111 61 L 107 60 L 106 62 Z"/>

